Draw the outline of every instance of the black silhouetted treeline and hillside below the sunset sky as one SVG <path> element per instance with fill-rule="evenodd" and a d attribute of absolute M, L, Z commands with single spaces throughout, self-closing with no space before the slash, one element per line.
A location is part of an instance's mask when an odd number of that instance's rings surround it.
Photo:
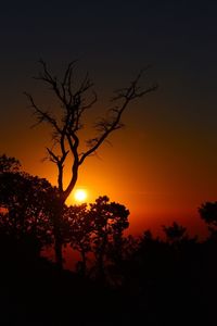
<path fill-rule="evenodd" d="M 41 256 L 54 246 L 55 188 L 0 156 L 1 325 L 216 325 L 217 202 L 199 209 L 206 240 L 174 222 L 165 237 L 124 236 L 129 211 L 100 197 L 64 206 L 76 271 Z"/>

